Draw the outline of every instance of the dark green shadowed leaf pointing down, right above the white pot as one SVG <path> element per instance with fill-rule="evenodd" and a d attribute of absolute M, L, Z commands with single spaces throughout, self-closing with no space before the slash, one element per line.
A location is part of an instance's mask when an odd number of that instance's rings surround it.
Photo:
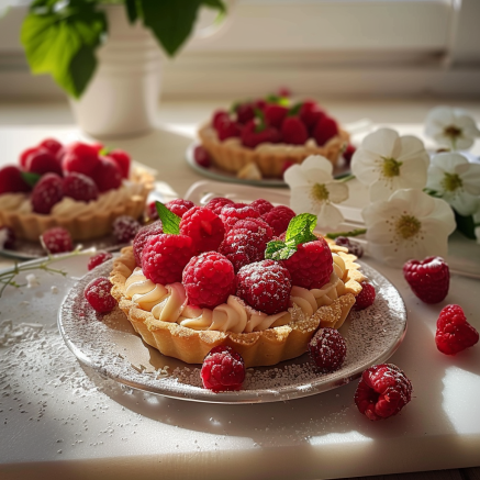
<path fill-rule="evenodd" d="M 201 0 L 138 0 L 145 26 L 174 56 L 190 36 Z"/>

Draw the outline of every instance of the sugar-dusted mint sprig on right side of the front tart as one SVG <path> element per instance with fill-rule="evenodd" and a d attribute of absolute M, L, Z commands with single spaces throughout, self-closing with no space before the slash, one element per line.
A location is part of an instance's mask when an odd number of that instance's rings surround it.
<path fill-rule="evenodd" d="M 297 245 L 316 241 L 316 236 L 313 234 L 315 225 L 316 216 L 311 213 L 301 213 L 294 216 L 287 228 L 284 242 L 269 242 L 265 250 L 265 258 L 289 259 L 297 252 Z"/>

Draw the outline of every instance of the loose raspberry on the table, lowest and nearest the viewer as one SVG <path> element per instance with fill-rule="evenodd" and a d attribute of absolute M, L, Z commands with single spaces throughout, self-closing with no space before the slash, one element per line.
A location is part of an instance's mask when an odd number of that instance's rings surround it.
<path fill-rule="evenodd" d="M 369 420 L 397 415 L 412 398 L 412 383 L 392 364 L 373 365 L 361 375 L 355 392 L 355 403 Z"/>

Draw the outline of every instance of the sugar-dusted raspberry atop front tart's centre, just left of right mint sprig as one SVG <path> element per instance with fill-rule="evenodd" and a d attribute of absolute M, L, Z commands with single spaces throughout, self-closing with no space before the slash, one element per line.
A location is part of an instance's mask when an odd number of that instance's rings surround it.
<path fill-rule="evenodd" d="M 219 252 L 232 261 L 235 271 L 254 261 L 265 258 L 267 243 L 274 237 L 274 231 L 260 219 L 239 220 L 225 235 Z"/>

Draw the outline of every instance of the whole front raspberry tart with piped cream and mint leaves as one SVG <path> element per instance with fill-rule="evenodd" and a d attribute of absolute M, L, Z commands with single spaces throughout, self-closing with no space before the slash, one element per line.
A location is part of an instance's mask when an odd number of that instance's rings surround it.
<path fill-rule="evenodd" d="M 220 203 L 211 205 L 216 209 Z M 222 215 L 232 208 L 226 202 L 220 214 L 212 210 L 212 215 L 204 217 L 213 220 L 203 222 L 193 236 L 216 237 L 217 228 L 212 225 L 216 219 L 225 219 L 223 222 L 232 219 L 231 214 Z M 245 210 L 244 204 L 236 208 Z M 199 208 L 194 209 L 197 213 Z M 360 282 L 366 280 L 356 257 L 345 247 L 328 246 L 323 237 L 313 234 L 315 222 L 311 217 L 315 221 L 316 217 L 302 214 L 292 219 L 283 239 L 276 237 L 268 225 L 264 226 L 264 236 L 270 232 L 271 239 L 264 259 L 258 259 L 257 253 L 250 254 L 245 225 L 265 224 L 259 215 L 259 212 L 253 217 L 238 215 L 238 226 L 233 223 L 228 231 L 225 227 L 227 246 L 222 242 L 217 250 L 199 253 L 199 241 L 188 242 L 189 217 L 168 213 L 161 217 L 163 233 L 146 236 L 148 232 L 138 232 L 138 238 L 147 238 L 146 246 L 144 242 L 134 242 L 133 247 L 122 249 L 110 276 L 112 295 L 145 343 L 188 364 L 202 364 L 214 347 L 231 347 L 248 368 L 299 357 L 308 350 L 319 327 L 342 326 L 361 291 Z M 305 223 L 305 215 L 311 223 Z M 190 215 L 192 222 L 194 217 Z M 232 241 L 236 228 L 238 239 Z M 295 284 L 297 269 L 290 267 L 291 275 L 283 261 L 294 258 L 301 244 L 314 244 L 313 250 L 321 261 L 312 265 L 323 269 L 323 279 L 314 271 L 306 288 Z M 139 259 L 137 248 L 142 249 Z M 305 255 L 300 254 L 303 265 L 308 264 Z M 232 256 L 235 261 L 230 260 Z M 236 261 L 237 257 L 242 257 L 242 263 Z M 299 261 L 292 265 L 298 267 Z M 308 275 L 305 269 L 303 281 Z"/>

